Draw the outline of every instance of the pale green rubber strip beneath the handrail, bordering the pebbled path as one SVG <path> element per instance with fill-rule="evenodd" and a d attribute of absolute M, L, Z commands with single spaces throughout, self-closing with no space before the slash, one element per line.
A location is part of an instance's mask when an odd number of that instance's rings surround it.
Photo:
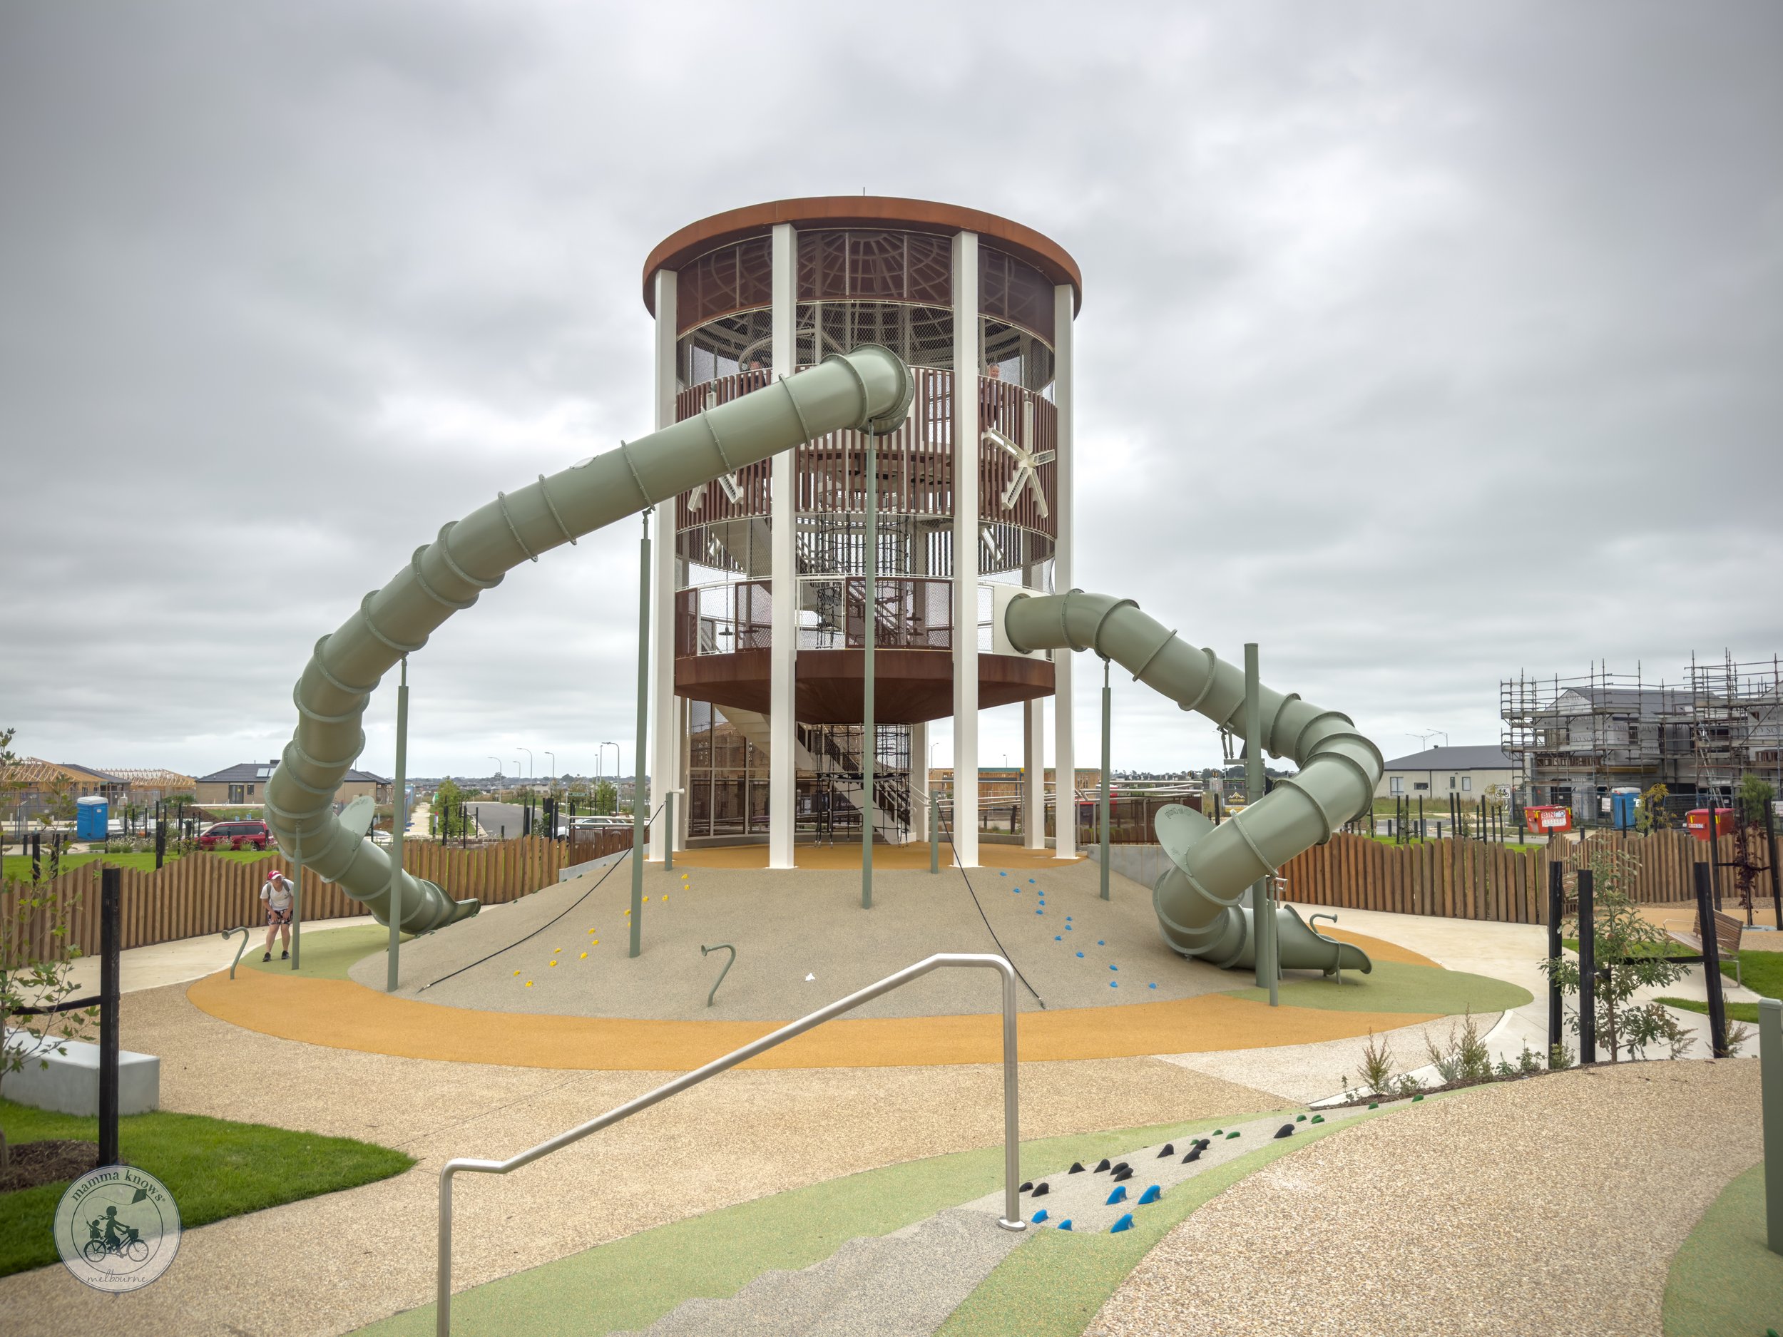
<path fill-rule="evenodd" d="M 1093 1162 L 1134 1146 L 1250 1118 L 1259 1114 L 1023 1143 L 1022 1173 L 1039 1175 L 1072 1161 Z M 1294 1137 L 1271 1143 L 1266 1152 L 1280 1155 L 1296 1143 L 1305 1144 Z M 1255 1164 L 1264 1162 L 1259 1159 Z M 988 1146 L 788 1189 L 670 1221 L 462 1291 L 453 1296 L 453 1330 L 581 1337 L 588 1332 L 645 1328 L 686 1300 L 733 1296 L 768 1269 L 809 1267 L 856 1235 L 886 1235 L 1000 1185 L 1002 1146 Z M 458 1193 L 474 1191 L 474 1177 L 460 1180 Z M 549 1191 L 549 1185 L 542 1189 Z M 597 1210 L 597 1198 L 590 1200 L 590 1210 Z M 1041 1243 L 1045 1241 L 1029 1241 L 1011 1257 Z M 1073 1333 L 1080 1330 L 1082 1325 Z M 426 1337 L 431 1332 L 433 1305 L 360 1328 L 360 1333 L 376 1337 Z"/>

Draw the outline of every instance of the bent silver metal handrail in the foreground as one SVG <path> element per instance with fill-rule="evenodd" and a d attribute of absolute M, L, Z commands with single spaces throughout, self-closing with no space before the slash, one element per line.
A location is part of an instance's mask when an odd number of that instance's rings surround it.
<path fill-rule="evenodd" d="M 1016 1050 L 1015 1050 L 1015 966 L 1000 956 L 990 952 L 936 952 L 931 957 L 924 957 L 913 966 L 904 966 L 904 970 L 895 975 L 886 975 L 877 984 L 868 984 L 865 989 L 850 993 L 847 998 L 838 998 L 827 1007 L 820 1007 L 809 1016 L 801 1016 L 797 1021 L 783 1025 L 779 1030 L 763 1036 L 758 1041 L 744 1045 L 740 1050 L 731 1050 L 722 1059 L 713 1059 L 704 1068 L 695 1068 L 690 1073 L 683 1073 L 672 1082 L 658 1086 L 654 1091 L 647 1091 L 637 1100 L 628 1100 L 624 1105 L 606 1111 L 599 1118 L 588 1120 L 569 1132 L 562 1132 L 538 1146 L 533 1146 L 519 1155 L 510 1155 L 506 1161 L 467 1161 L 453 1159 L 440 1168 L 440 1230 L 439 1230 L 439 1262 L 435 1267 L 433 1282 L 433 1310 L 435 1321 L 433 1330 L 439 1337 L 451 1337 L 451 1178 L 456 1173 L 474 1173 L 474 1175 L 508 1175 L 521 1166 L 530 1166 L 533 1161 L 551 1155 L 571 1143 L 579 1143 L 592 1132 L 599 1132 L 620 1120 L 628 1120 L 638 1111 L 645 1111 L 651 1105 L 658 1105 L 669 1096 L 679 1095 L 692 1086 L 699 1086 L 708 1077 L 717 1077 L 740 1062 L 747 1062 L 758 1054 L 767 1054 L 776 1045 L 785 1045 L 795 1036 L 802 1036 L 806 1030 L 820 1027 L 843 1013 L 850 1013 L 861 1004 L 872 1002 L 874 998 L 892 993 L 892 989 L 909 984 L 913 979 L 927 975 L 931 970 L 940 970 L 943 966 L 982 966 L 988 970 L 997 970 L 1002 973 L 1004 986 L 1004 1214 L 997 1219 L 1004 1230 L 1027 1230 L 1027 1221 L 1022 1219 L 1022 1203 L 1018 1194 L 1018 1182 L 1022 1178 L 1020 1162 L 1020 1128 L 1016 1118 Z"/>

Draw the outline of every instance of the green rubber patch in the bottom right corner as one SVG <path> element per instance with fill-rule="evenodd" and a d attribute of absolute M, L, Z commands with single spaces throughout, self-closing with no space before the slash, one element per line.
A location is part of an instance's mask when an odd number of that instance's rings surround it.
<path fill-rule="evenodd" d="M 1783 1257 L 1765 1248 L 1765 1164 L 1735 1178 L 1672 1255 L 1665 1337 L 1783 1332 Z"/>

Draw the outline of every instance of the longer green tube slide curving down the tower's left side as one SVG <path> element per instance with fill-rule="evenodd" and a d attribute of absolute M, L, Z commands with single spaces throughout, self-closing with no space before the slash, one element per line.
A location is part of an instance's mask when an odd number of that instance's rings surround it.
<path fill-rule="evenodd" d="M 453 613 L 501 583 L 524 560 L 681 492 L 845 428 L 888 431 L 904 421 L 915 381 L 892 351 L 863 344 L 790 380 L 708 408 L 617 451 L 497 492 L 451 521 L 410 563 L 366 595 L 358 611 L 316 642 L 292 688 L 298 727 L 266 786 L 266 820 L 278 847 L 335 882 L 383 923 L 390 922 L 390 859 L 364 825 L 333 813 L 333 795 L 366 747 L 360 720 L 383 674 Z M 369 816 L 369 813 L 362 813 Z M 401 879 L 398 915 L 426 932 L 476 915 L 433 882 Z"/>

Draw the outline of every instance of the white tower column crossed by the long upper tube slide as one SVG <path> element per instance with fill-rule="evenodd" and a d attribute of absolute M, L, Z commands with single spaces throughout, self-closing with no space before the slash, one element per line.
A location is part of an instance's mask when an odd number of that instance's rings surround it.
<path fill-rule="evenodd" d="M 774 376 L 799 369 L 793 342 L 793 303 L 799 298 L 799 235 L 790 223 L 774 225 Z M 793 697 L 799 652 L 799 553 L 793 521 L 793 456 L 774 456 L 770 485 L 772 635 L 768 638 L 768 868 L 793 866 L 793 808 L 799 763 L 793 756 Z"/>

